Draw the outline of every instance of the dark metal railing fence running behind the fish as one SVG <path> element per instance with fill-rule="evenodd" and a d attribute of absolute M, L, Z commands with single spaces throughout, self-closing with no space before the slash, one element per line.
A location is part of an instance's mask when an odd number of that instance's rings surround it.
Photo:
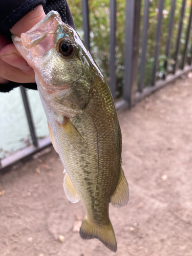
<path fill-rule="evenodd" d="M 162 12 L 164 0 L 159 0 L 159 13 L 158 13 L 158 23 L 156 28 L 156 37 L 155 37 L 155 51 L 154 51 L 154 63 L 153 71 L 151 77 L 151 84 L 148 84 L 147 87 L 144 87 L 144 74 L 145 74 L 145 62 L 146 62 L 146 45 L 147 45 L 147 28 L 149 20 L 149 5 L 150 0 L 144 1 L 144 12 L 143 12 L 143 29 L 142 35 L 140 35 L 140 19 L 141 19 L 141 0 L 126 0 L 126 10 L 125 10 L 125 45 L 124 45 L 124 84 L 123 84 L 123 93 L 120 100 L 116 102 L 117 110 L 123 108 L 131 108 L 135 103 L 145 96 L 155 92 L 156 90 L 166 86 L 168 83 L 173 82 L 182 74 L 185 74 L 192 70 L 191 62 L 192 57 L 186 58 L 187 47 L 189 42 L 189 35 L 191 30 L 191 18 L 192 18 L 192 0 L 190 2 L 190 15 L 188 18 L 188 27 L 185 39 L 184 53 L 182 57 L 182 65 L 180 69 L 178 68 L 178 54 L 180 51 L 180 39 L 183 28 L 183 18 L 185 15 L 185 5 L 186 0 L 182 1 L 181 12 L 180 12 L 180 22 L 178 28 L 177 42 L 175 48 L 175 63 L 172 74 L 166 75 L 166 72 L 163 75 L 163 79 L 156 80 L 156 72 L 158 67 L 158 56 L 159 56 L 159 47 L 160 47 L 160 37 L 161 37 L 161 24 L 162 24 Z M 169 15 L 169 25 L 167 27 L 168 37 L 166 42 L 166 60 L 164 61 L 164 69 L 167 69 L 167 60 L 170 53 L 170 43 L 172 38 L 172 31 L 174 26 L 174 14 L 176 8 L 176 0 L 172 0 L 170 15 Z M 90 49 L 90 26 L 89 26 L 89 3 L 88 0 L 82 0 L 82 17 L 83 17 L 83 29 L 84 29 L 84 41 Z M 115 31 L 116 31 L 116 1 L 110 0 L 110 89 L 114 100 L 116 99 L 115 90 Z M 142 36 L 141 42 L 141 57 L 140 57 L 140 66 L 138 68 L 138 59 L 139 59 L 139 38 Z M 190 49 L 192 56 L 192 48 Z M 138 83 L 138 72 L 139 72 L 139 83 Z M 28 153 L 25 153 L 23 157 L 34 154 L 34 152 L 40 151 L 42 148 L 50 145 L 50 140 L 47 139 L 44 142 L 38 141 L 33 125 L 33 120 L 31 116 L 31 111 L 26 95 L 25 88 L 21 87 L 23 102 L 26 110 L 26 116 L 28 119 L 28 124 L 30 127 L 30 133 L 33 141 L 33 146 Z M 20 157 L 13 159 L 12 161 L 19 160 Z M 3 161 L 2 161 L 3 162 Z M 7 166 L 8 162 L 2 164 L 2 168 Z"/>

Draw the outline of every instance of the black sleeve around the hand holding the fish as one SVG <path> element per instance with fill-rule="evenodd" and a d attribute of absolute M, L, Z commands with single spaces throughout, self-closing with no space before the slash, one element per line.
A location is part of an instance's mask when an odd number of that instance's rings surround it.
<path fill-rule="evenodd" d="M 44 11 L 57 11 L 64 23 L 75 29 L 74 20 L 66 0 L 0 0 L 0 33 L 11 40 L 9 30 L 23 18 L 28 12 L 38 5 L 44 7 Z M 0 84 L 0 92 L 9 92 L 18 86 L 37 90 L 36 83 L 17 83 L 9 81 L 8 84 Z"/>

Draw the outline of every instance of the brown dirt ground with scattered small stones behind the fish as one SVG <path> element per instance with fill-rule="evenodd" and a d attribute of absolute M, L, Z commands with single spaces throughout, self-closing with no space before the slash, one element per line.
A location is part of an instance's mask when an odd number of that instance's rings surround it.
<path fill-rule="evenodd" d="M 63 166 L 50 147 L 0 175 L 0 256 L 192 255 L 191 78 L 120 113 L 119 121 L 130 201 L 110 205 L 117 252 L 80 238 L 85 212 L 67 200 Z"/>

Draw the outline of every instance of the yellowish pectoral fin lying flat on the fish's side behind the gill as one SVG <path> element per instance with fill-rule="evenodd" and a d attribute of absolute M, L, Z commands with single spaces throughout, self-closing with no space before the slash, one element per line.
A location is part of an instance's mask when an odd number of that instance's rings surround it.
<path fill-rule="evenodd" d="M 78 151 L 78 152 L 87 152 L 88 145 L 86 140 L 81 136 L 79 131 L 73 125 L 73 123 L 66 118 L 65 122 L 62 124 L 62 128 L 65 132 L 65 135 L 69 143 Z"/>

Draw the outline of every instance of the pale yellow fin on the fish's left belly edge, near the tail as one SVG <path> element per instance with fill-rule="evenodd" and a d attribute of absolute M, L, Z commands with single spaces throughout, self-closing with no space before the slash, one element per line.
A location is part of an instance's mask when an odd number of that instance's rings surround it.
<path fill-rule="evenodd" d="M 65 190 L 66 196 L 71 203 L 77 203 L 80 199 L 75 187 L 73 186 L 68 174 L 66 173 L 63 180 L 63 188 Z"/>

